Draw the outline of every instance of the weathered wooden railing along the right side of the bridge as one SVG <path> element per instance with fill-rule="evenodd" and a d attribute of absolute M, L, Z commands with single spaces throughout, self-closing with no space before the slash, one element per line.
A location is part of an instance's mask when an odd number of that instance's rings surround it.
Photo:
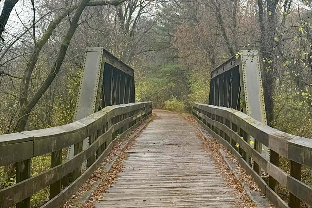
<path fill-rule="evenodd" d="M 193 103 L 192 113 L 212 136 L 235 155 L 275 206 L 299 208 L 300 200 L 312 206 L 312 187 L 301 182 L 301 166 L 312 168 L 311 139 L 273 129 L 234 109 Z M 254 147 L 250 145 L 251 137 L 254 138 Z M 269 147 L 269 161 L 259 153 L 259 142 Z M 290 160 L 289 173 L 279 168 L 280 155 Z M 261 169 L 269 175 L 268 183 L 259 175 Z M 278 184 L 288 190 L 288 204 L 277 194 Z"/>

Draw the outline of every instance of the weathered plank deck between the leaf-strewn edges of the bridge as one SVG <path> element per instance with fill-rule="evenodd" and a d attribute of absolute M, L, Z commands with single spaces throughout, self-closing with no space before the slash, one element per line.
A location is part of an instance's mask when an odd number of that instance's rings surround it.
<path fill-rule="evenodd" d="M 96 208 L 241 207 L 181 115 L 154 110 L 154 120 L 136 139 L 124 172 Z"/>

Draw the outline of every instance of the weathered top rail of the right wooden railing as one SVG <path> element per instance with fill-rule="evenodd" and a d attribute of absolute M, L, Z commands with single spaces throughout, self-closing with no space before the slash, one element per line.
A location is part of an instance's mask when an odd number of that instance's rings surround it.
<path fill-rule="evenodd" d="M 268 146 L 276 153 L 312 167 L 312 141 L 262 124 L 235 109 L 228 109 L 207 104 L 193 103 L 193 106 L 208 113 L 222 116 L 240 126 L 258 142 Z M 288 151 L 291 151 L 290 153 Z"/>

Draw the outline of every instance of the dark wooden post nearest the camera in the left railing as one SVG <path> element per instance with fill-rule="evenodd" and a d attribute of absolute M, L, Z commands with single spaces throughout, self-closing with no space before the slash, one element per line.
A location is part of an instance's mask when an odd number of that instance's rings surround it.
<path fill-rule="evenodd" d="M 16 163 L 16 183 L 27 178 L 30 178 L 30 159 Z M 18 202 L 16 208 L 30 208 L 30 197 Z"/>

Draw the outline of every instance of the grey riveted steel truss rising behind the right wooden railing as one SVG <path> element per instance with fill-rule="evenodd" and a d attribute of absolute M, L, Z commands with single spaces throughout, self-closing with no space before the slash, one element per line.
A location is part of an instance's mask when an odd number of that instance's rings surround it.
<path fill-rule="evenodd" d="M 267 124 L 258 51 L 242 50 L 212 70 L 209 104 L 240 110 Z M 264 145 L 262 155 L 269 158 Z"/>

